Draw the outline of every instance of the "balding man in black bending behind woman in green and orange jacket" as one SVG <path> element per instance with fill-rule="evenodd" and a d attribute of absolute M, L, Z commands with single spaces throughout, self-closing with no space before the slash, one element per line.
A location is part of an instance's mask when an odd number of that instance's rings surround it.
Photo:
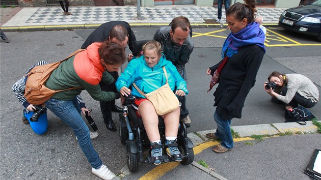
<path fill-rule="evenodd" d="M 87 40 L 82 45 L 82 49 L 86 49 L 90 44 L 94 42 L 102 42 L 102 41 L 112 41 L 120 44 L 121 46 L 126 47 L 129 46 L 129 49 L 133 51 L 133 48 L 136 45 L 136 37 L 133 34 L 130 25 L 125 21 L 110 21 L 101 24 L 99 27 L 95 29 L 87 38 Z M 109 72 L 115 80 L 118 79 L 118 72 Z M 102 91 L 106 92 L 117 92 L 115 84 L 105 84 L 100 82 L 100 87 Z M 114 101 L 99 101 L 100 109 L 103 117 L 103 121 L 106 125 L 106 128 L 115 132 L 116 127 L 114 125 L 112 119 L 112 111 L 115 112 L 123 112 L 122 108 L 115 105 Z"/>

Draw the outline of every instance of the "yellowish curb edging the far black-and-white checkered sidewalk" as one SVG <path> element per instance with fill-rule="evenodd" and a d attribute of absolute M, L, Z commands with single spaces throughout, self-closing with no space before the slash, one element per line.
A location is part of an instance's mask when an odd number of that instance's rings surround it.
<path fill-rule="evenodd" d="M 162 27 L 168 23 L 129 23 L 131 27 Z M 35 32 L 35 31 L 71 31 L 74 29 L 97 28 L 100 24 L 70 24 L 70 25 L 31 25 L 31 26 L 3 26 L 5 32 Z M 264 26 L 277 26 L 277 23 L 263 24 Z M 227 24 L 192 23 L 193 28 L 226 27 Z"/>

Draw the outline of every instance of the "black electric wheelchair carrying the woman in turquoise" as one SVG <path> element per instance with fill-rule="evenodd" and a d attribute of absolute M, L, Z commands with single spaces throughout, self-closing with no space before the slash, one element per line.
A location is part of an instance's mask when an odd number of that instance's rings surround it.
<path fill-rule="evenodd" d="M 141 117 L 137 116 L 135 109 L 131 106 L 135 97 L 128 96 L 125 99 L 124 112 L 119 114 L 119 134 L 122 144 L 127 147 L 127 165 L 131 172 L 136 172 L 140 163 L 152 163 L 150 151 L 147 158 L 143 157 L 143 152 L 149 149 L 150 141 L 144 129 Z M 161 135 L 162 147 L 165 146 L 165 124 L 164 119 L 158 116 L 158 130 Z M 193 142 L 188 138 L 184 123 L 179 122 L 177 144 L 182 155 L 183 165 L 189 165 L 194 161 Z M 168 157 L 163 151 L 162 163 L 176 162 Z"/>

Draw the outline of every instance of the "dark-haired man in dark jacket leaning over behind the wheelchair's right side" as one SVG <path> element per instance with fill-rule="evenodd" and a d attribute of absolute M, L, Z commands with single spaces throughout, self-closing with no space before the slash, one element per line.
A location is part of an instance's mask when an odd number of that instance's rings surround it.
<path fill-rule="evenodd" d="M 189 19 L 179 16 L 174 18 L 169 26 L 159 28 L 153 38 L 154 41 L 162 44 L 166 59 L 173 63 L 185 80 L 185 64 L 189 62 L 194 49 L 194 41 L 191 37 L 192 29 Z M 186 127 L 189 127 L 191 126 L 191 119 L 189 110 L 186 109 L 186 98 L 178 97 L 178 100 L 182 103 L 180 120 Z"/>

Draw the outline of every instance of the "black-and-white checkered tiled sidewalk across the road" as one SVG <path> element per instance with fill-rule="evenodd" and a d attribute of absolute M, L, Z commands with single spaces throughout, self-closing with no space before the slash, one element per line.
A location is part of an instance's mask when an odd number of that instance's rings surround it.
<path fill-rule="evenodd" d="M 264 17 L 264 23 L 276 23 L 284 10 L 258 8 L 258 14 Z M 23 8 L 3 26 L 101 24 L 112 20 L 129 23 L 169 23 L 177 16 L 188 17 L 191 23 L 204 23 L 203 19 L 217 18 L 216 8 L 193 5 L 141 7 L 141 18 L 137 17 L 136 6 L 70 7 L 69 12 L 73 15 L 63 15 L 60 7 Z"/>

